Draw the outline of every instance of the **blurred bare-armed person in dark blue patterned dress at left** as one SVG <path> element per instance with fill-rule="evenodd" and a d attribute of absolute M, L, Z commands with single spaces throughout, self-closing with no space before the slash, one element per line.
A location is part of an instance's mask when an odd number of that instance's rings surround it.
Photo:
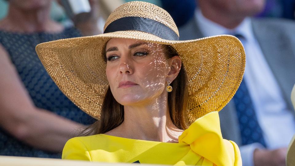
<path fill-rule="evenodd" d="M 0 155 L 60 158 L 76 129 L 94 122 L 58 89 L 35 51 L 41 42 L 100 33 L 98 1 L 89 3 L 78 30 L 50 18 L 51 0 L 8 1 L 0 21 Z"/>

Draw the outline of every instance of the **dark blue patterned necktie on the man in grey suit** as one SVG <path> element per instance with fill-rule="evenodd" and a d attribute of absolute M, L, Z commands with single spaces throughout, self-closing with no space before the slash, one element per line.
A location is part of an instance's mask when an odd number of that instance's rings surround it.
<path fill-rule="evenodd" d="M 234 35 L 241 41 L 245 38 L 240 35 Z M 258 142 L 266 147 L 265 140 L 262 135 L 262 129 L 259 126 L 254 105 L 251 101 L 249 91 L 247 89 L 245 78 L 243 78 L 236 94 L 233 97 L 236 106 L 239 127 L 241 130 L 242 145 Z"/>

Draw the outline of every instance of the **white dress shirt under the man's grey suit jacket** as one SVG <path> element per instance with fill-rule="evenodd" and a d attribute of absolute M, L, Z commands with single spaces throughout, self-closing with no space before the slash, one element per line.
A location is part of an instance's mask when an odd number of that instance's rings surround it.
<path fill-rule="evenodd" d="M 238 27 L 229 30 L 205 18 L 200 10 L 195 12 L 195 18 L 205 37 L 220 34 L 240 34 L 244 37 L 241 39 L 246 52 L 244 78 L 265 143 L 268 149 L 287 147 L 295 133 L 294 116 L 287 110 L 281 89 L 254 36 L 251 19 L 245 18 Z M 262 145 L 254 143 L 240 147 L 244 166 L 254 165 L 253 152 L 256 148 L 262 148 Z"/>

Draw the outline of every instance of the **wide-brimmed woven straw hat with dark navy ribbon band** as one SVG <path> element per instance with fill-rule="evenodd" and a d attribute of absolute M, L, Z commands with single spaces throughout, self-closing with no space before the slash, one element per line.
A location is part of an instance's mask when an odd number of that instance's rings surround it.
<path fill-rule="evenodd" d="M 109 86 L 103 49 L 111 38 L 138 39 L 173 46 L 188 77 L 189 122 L 221 110 L 234 96 L 245 69 L 245 51 L 230 35 L 179 41 L 167 11 L 147 2 L 128 2 L 108 17 L 104 34 L 38 44 L 37 54 L 61 91 L 80 109 L 99 119 Z"/>

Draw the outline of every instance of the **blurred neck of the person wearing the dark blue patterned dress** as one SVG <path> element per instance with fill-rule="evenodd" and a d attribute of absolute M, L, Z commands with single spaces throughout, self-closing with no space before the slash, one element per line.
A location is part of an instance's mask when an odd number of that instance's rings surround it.
<path fill-rule="evenodd" d="M 11 4 L 6 18 L 1 21 L 4 30 L 33 33 L 60 32 L 63 28 L 50 19 L 50 6 L 35 10 L 23 10 Z"/>

